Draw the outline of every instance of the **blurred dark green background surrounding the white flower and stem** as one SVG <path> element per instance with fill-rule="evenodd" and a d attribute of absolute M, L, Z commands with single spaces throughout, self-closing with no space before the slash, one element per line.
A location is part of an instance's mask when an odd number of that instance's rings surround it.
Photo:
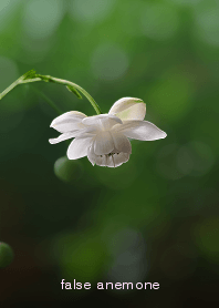
<path fill-rule="evenodd" d="M 56 114 L 32 85 L 0 101 L 0 240 L 14 251 L 0 269 L 2 307 L 216 304 L 219 2 L 1 0 L 0 92 L 31 69 L 80 84 L 103 113 L 143 99 L 167 137 L 132 141 L 115 170 L 86 157 L 65 166 L 66 143 L 49 144 Z M 33 85 L 63 112 L 95 114 L 62 85 Z M 62 290 L 61 279 L 92 288 Z"/>

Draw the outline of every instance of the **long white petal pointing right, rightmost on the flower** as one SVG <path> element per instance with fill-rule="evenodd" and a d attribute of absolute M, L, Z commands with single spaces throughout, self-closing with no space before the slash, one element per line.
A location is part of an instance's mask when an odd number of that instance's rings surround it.
<path fill-rule="evenodd" d="M 129 138 L 153 141 L 165 138 L 167 134 L 148 121 L 125 121 L 122 125 L 116 125 L 115 131 L 123 133 Z"/>

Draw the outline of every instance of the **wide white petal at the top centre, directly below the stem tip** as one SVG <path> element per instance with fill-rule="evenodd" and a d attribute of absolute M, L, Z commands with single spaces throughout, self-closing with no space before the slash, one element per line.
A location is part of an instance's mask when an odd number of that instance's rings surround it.
<path fill-rule="evenodd" d="M 121 119 L 111 114 L 98 114 L 93 116 L 87 116 L 82 120 L 82 124 L 92 125 L 98 130 L 106 131 L 111 130 L 115 124 L 123 123 Z"/>

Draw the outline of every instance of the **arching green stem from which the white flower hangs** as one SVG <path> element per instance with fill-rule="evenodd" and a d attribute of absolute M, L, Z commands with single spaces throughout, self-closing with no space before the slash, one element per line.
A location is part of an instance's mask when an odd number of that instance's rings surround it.
<path fill-rule="evenodd" d="M 36 81 L 45 81 L 45 82 L 54 82 L 54 83 L 63 84 L 63 85 L 67 86 L 67 89 L 71 92 L 73 92 L 77 97 L 81 97 L 80 93 L 77 92 L 77 90 L 79 90 L 90 101 L 90 103 L 94 107 L 95 112 L 97 114 L 102 113 L 100 106 L 94 101 L 94 99 L 83 88 L 81 88 L 76 83 L 73 83 L 71 81 L 63 80 L 63 79 L 53 78 L 50 75 L 35 74 L 35 72 L 33 70 L 27 72 L 24 75 L 22 75 L 17 81 L 14 81 L 10 86 L 8 86 L 2 93 L 0 93 L 0 100 L 6 94 L 8 94 L 11 90 L 13 90 L 17 85 L 22 84 L 22 83 L 36 82 Z"/>

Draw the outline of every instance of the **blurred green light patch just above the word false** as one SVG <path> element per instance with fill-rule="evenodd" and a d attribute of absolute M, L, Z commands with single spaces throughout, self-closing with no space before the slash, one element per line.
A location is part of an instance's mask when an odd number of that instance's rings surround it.
<path fill-rule="evenodd" d="M 105 246 L 92 229 L 85 233 L 59 234 L 51 242 L 51 257 L 70 281 L 90 281 L 102 275 L 107 259 Z"/>

